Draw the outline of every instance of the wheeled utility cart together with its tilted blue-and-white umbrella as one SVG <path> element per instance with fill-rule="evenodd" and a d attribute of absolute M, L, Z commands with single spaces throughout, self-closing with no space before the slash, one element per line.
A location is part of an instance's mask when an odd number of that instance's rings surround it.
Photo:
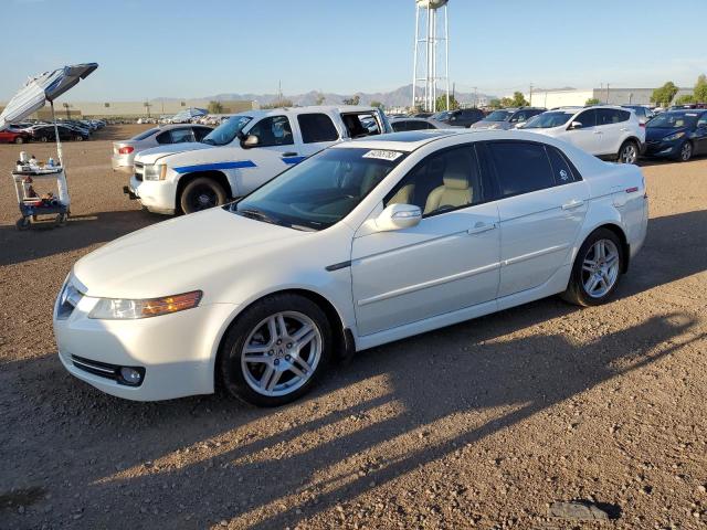
<path fill-rule="evenodd" d="M 19 230 L 29 229 L 34 221 L 45 215 L 54 216 L 54 226 L 62 226 L 66 223 L 71 201 L 64 172 L 62 142 L 54 116 L 54 100 L 97 67 L 97 63 L 74 64 L 31 77 L 0 114 L 0 130 L 2 130 L 9 125 L 31 116 L 48 102 L 52 107 L 59 165 L 54 166 L 50 159 L 48 165 L 40 166 L 34 159 L 27 160 L 22 152 L 17 169 L 12 171 L 12 182 L 22 215 L 17 222 Z M 56 194 L 49 192 L 40 195 L 34 190 L 34 182 L 46 182 L 46 180 L 56 182 Z"/>

